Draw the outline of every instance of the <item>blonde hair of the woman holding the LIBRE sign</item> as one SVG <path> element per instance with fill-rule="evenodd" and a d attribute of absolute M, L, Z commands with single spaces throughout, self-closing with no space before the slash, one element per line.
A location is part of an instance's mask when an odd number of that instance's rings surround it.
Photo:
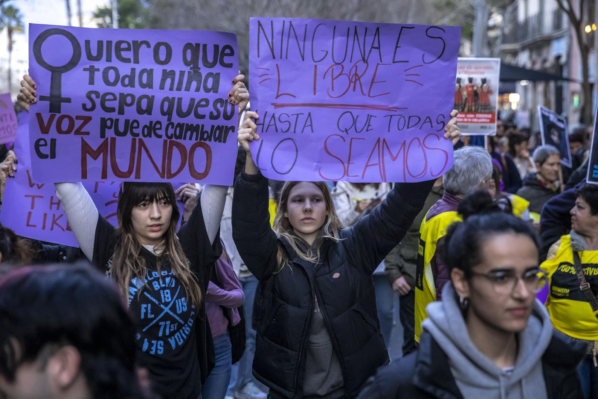
<path fill-rule="evenodd" d="M 289 194 L 291 194 L 291 189 L 297 186 L 299 183 L 301 182 L 285 182 L 285 184 L 282 186 L 282 189 L 280 189 L 280 198 L 278 200 L 276 217 L 274 217 L 273 230 L 279 235 L 279 237 L 284 237 L 286 241 L 291 244 L 292 249 L 297 252 L 297 255 L 299 255 L 300 258 L 309 262 L 317 263 L 320 259 L 319 245 L 316 246 L 315 253 L 310 251 L 307 253 L 303 252 L 299 245 L 299 238 L 297 235 L 293 234 L 294 230 L 291 222 L 289 222 L 289 219 L 285 217 L 285 213 L 288 211 L 287 202 L 289 200 Z M 338 219 L 328 185 L 325 182 L 310 183 L 315 184 L 322 191 L 322 196 L 324 197 L 324 202 L 326 204 L 327 215 L 326 219 L 324 219 L 324 224 L 319 229 L 319 239 L 329 238 L 330 240 L 334 241 L 340 240 L 339 232 L 343 228 L 343 225 Z M 288 255 L 285 248 L 280 244 L 278 246 L 277 260 L 278 264 L 280 265 L 279 271 L 288 264 Z"/>

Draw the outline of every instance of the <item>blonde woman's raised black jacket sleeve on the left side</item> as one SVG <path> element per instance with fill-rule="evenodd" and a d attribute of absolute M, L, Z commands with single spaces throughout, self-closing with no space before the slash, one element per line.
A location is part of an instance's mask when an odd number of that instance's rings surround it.
<path fill-rule="evenodd" d="M 277 267 L 278 244 L 270 228 L 268 179 L 259 174 L 239 174 L 233 194 L 233 240 L 239 255 L 260 281 Z"/>

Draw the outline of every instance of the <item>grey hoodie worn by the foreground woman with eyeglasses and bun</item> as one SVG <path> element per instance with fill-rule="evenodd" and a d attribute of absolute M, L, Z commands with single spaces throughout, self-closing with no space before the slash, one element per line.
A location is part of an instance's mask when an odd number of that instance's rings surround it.
<path fill-rule="evenodd" d="M 536 300 L 527 328 L 519 334 L 519 353 L 512 371 L 504 371 L 469 340 L 453 285 L 443 289 L 443 300 L 426 307 L 423 324 L 449 358 L 451 373 L 465 399 L 547 399 L 542 355 L 550 343 L 550 316 Z M 539 315 L 540 318 L 536 317 Z"/>

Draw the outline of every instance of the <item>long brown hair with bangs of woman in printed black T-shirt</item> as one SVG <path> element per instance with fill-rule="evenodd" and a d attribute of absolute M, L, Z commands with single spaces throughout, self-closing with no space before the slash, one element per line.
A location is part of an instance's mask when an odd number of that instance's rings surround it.
<path fill-rule="evenodd" d="M 163 236 L 164 249 L 157 259 L 158 273 L 160 273 L 161 265 L 166 261 L 166 264 L 170 265 L 175 276 L 181 281 L 188 297 L 191 298 L 191 303 L 199 305 L 202 300 L 202 291 L 194 279 L 181 243 L 176 237 L 176 225 L 181 214 L 176 206 L 175 189 L 170 183 L 124 183 L 118 198 L 117 246 L 110 269 L 112 277 L 125 298 L 129 297 L 131 279 L 145 281 L 147 265 L 141 256 L 141 243 L 133 229 L 131 213 L 134 207 L 146 201 L 166 201 L 172 206 L 170 224 Z M 143 288 L 143 286 L 139 288 L 138 295 L 141 295 Z"/>

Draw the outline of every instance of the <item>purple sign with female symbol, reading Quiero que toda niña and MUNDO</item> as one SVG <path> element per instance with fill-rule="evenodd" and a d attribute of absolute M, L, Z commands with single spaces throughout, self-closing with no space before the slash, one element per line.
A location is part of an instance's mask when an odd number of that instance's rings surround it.
<path fill-rule="evenodd" d="M 29 43 L 36 180 L 232 184 L 234 34 L 30 24 Z"/>

